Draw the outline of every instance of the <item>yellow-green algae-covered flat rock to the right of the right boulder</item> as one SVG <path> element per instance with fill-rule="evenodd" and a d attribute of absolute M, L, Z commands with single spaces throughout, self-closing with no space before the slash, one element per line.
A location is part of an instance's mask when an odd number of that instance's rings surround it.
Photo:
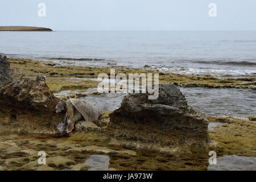
<path fill-rule="evenodd" d="M 256 157 L 255 115 L 248 117 L 208 116 L 210 122 L 227 123 L 209 130 L 209 136 L 217 143 L 212 150 L 218 155 L 239 155 Z"/>

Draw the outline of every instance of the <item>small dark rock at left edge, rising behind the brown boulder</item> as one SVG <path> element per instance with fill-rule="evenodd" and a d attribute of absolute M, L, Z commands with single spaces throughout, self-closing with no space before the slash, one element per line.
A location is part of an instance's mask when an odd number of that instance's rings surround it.
<path fill-rule="evenodd" d="M 11 82 L 12 78 L 10 76 L 10 63 L 7 61 L 6 56 L 0 55 L 0 86 Z"/>

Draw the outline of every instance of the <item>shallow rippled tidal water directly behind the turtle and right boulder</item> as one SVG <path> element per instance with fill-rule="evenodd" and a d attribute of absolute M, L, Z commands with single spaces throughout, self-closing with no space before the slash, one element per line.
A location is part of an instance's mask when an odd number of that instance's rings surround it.
<path fill-rule="evenodd" d="M 236 88 L 180 88 L 188 105 L 207 115 L 233 115 L 245 117 L 256 114 L 256 90 Z M 97 108 L 113 111 L 121 106 L 126 94 L 86 96 L 84 99 Z M 108 103 L 108 104 L 106 104 Z"/>

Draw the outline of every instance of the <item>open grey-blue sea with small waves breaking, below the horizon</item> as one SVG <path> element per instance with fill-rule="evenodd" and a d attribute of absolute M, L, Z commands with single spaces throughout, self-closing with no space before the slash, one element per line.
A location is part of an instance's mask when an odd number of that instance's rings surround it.
<path fill-rule="evenodd" d="M 71 65 L 256 76 L 256 31 L 0 32 L 0 53 Z"/>

